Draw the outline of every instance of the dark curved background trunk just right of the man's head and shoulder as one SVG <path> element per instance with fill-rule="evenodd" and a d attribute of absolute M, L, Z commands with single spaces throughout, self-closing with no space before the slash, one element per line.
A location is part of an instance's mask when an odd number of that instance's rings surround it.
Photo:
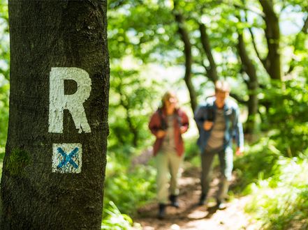
<path fill-rule="evenodd" d="M 258 114 L 258 77 L 254 63 L 252 63 L 251 59 L 249 59 L 249 55 L 247 54 L 246 45 L 241 32 L 238 33 L 237 49 L 240 54 L 244 71 L 249 77 L 249 81 L 247 82 L 247 88 L 249 91 L 248 119 L 245 132 L 252 134 L 254 133 L 256 127 L 256 114 Z"/>

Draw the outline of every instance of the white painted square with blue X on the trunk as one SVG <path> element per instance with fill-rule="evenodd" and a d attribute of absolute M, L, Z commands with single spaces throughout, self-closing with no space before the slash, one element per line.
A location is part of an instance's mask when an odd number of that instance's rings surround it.
<path fill-rule="evenodd" d="M 52 172 L 78 174 L 81 167 L 81 144 L 52 144 Z"/>

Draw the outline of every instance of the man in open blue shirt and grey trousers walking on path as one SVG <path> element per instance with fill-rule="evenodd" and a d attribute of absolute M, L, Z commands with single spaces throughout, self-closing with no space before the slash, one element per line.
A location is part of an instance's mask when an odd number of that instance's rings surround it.
<path fill-rule="evenodd" d="M 199 205 L 205 204 L 207 192 L 210 189 L 212 162 L 214 155 L 219 155 L 221 178 L 217 192 L 217 207 L 226 208 L 225 199 L 233 170 L 233 139 L 237 149 L 236 154 L 244 151 L 242 123 L 237 104 L 228 98 L 230 86 L 227 82 L 217 81 L 215 95 L 207 98 L 204 105 L 196 109 L 195 120 L 200 137 L 198 146 L 201 152 L 201 187 Z"/>

